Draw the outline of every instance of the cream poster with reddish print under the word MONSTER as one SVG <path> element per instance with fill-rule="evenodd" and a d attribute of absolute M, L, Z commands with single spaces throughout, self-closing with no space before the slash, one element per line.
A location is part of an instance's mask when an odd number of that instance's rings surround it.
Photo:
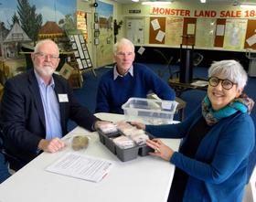
<path fill-rule="evenodd" d="M 183 17 L 166 17 L 165 44 L 179 46 L 182 42 Z"/>

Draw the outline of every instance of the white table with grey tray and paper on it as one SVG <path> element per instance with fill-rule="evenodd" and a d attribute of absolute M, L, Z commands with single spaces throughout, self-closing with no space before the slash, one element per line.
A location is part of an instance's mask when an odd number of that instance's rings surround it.
<path fill-rule="evenodd" d="M 98 113 L 103 120 L 120 121 L 123 115 Z M 37 156 L 16 174 L 0 185 L 0 202 L 165 202 L 174 175 L 175 166 L 154 156 L 138 156 L 121 162 L 99 141 L 98 133 L 89 133 L 77 127 L 70 135 L 89 135 L 91 142 L 80 154 L 114 162 L 111 172 L 99 183 L 92 183 L 45 171 L 60 156 L 72 151 L 68 147 L 55 154 Z M 67 138 L 67 136 L 65 137 Z M 162 139 L 177 150 L 179 140 Z"/>

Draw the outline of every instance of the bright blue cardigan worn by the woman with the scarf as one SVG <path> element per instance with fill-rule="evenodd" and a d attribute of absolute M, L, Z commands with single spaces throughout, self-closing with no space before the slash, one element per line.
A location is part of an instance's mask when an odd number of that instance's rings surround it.
<path fill-rule="evenodd" d="M 183 138 L 202 116 L 201 108 L 184 122 L 146 126 L 157 137 Z M 212 126 L 198 145 L 195 158 L 174 153 L 170 163 L 189 175 L 183 201 L 240 202 L 247 183 L 247 165 L 255 142 L 251 116 L 237 112 Z"/>

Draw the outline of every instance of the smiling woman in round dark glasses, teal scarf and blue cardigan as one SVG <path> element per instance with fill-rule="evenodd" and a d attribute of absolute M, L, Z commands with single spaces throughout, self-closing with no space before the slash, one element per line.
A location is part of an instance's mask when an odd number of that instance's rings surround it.
<path fill-rule="evenodd" d="M 242 91 L 247 73 L 239 62 L 222 60 L 208 69 L 208 94 L 184 122 L 137 127 L 161 138 L 183 138 L 174 152 L 160 140 L 147 141 L 155 156 L 176 165 L 168 201 L 239 202 L 254 146 L 253 101 Z"/>

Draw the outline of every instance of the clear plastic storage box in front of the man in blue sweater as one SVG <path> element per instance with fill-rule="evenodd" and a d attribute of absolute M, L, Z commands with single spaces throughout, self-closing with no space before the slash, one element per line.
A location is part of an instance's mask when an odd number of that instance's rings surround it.
<path fill-rule="evenodd" d="M 126 121 L 138 118 L 150 124 L 165 124 L 173 121 L 178 102 L 144 98 L 130 98 L 122 105 Z"/>

